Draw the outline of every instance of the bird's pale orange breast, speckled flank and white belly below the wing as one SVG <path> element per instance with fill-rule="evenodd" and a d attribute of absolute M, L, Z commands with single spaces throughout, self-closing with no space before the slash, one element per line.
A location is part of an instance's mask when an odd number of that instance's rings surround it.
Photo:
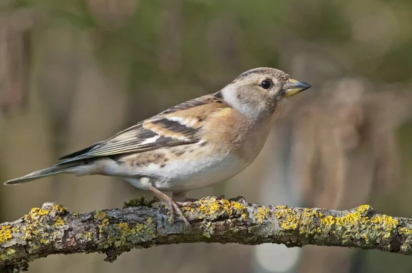
<path fill-rule="evenodd" d="M 201 130 L 198 143 L 126 156 L 124 177 L 149 176 L 163 191 L 189 191 L 235 176 L 262 150 L 271 119 L 253 125 L 232 114 L 227 110 L 214 117 L 215 123 Z"/>

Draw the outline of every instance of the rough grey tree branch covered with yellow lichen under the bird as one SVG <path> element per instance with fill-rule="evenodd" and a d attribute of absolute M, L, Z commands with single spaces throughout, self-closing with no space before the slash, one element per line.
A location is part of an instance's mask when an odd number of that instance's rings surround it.
<path fill-rule="evenodd" d="M 369 205 L 349 211 L 244 204 L 209 197 L 183 207 L 192 223 L 170 223 L 167 209 L 147 206 L 69 213 L 45 203 L 0 224 L 0 271 L 19 272 L 49 254 L 102 252 L 115 261 L 132 248 L 179 243 L 345 246 L 412 254 L 412 219 L 381 215 Z"/>

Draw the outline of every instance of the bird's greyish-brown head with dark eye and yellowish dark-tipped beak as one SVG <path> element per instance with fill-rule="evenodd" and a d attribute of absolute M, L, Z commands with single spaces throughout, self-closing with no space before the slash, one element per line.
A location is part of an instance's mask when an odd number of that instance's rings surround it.
<path fill-rule="evenodd" d="M 273 68 L 248 70 L 221 90 L 227 103 L 247 117 L 260 119 L 273 115 L 288 97 L 310 88 Z"/>

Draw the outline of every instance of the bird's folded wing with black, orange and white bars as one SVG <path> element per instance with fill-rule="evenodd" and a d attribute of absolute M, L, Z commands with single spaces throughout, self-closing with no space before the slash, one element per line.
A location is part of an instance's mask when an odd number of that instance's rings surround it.
<path fill-rule="evenodd" d="M 201 141 L 198 131 L 207 117 L 227 107 L 218 92 L 198 97 L 161 112 L 155 117 L 137 123 L 111 139 L 101 141 L 78 152 L 58 158 L 59 164 L 86 158 L 146 152 L 162 147 L 185 145 Z"/>

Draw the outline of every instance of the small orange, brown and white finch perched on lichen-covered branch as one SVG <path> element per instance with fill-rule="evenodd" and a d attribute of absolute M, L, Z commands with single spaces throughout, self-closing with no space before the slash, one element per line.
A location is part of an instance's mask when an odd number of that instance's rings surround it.
<path fill-rule="evenodd" d="M 172 221 L 177 214 L 190 225 L 179 207 L 190 200 L 187 192 L 249 166 L 287 99 L 310 87 L 278 69 L 250 69 L 216 93 L 173 106 L 5 185 L 56 174 L 117 176 L 152 191 L 168 204 Z"/>

